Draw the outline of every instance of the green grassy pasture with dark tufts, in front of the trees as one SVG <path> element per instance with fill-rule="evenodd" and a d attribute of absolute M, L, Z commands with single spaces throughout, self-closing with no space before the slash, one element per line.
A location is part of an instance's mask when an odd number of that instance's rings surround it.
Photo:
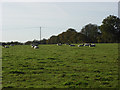
<path fill-rule="evenodd" d="M 3 87 L 118 88 L 118 44 L 2 49 Z"/>

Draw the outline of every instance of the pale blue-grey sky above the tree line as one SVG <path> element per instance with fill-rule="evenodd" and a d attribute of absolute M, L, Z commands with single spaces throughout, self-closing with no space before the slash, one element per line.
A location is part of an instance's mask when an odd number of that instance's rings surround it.
<path fill-rule="evenodd" d="M 40 27 L 42 39 L 68 28 L 80 32 L 109 15 L 118 16 L 117 2 L 3 2 L 2 41 L 40 40 Z"/>

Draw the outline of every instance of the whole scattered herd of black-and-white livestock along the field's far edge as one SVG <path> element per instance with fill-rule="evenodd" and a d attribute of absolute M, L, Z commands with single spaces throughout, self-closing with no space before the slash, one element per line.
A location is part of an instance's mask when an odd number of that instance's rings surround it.
<path fill-rule="evenodd" d="M 61 44 L 61 43 L 58 43 L 58 44 L 57 44 L 57 46 L 62 46 L 62 45 L 63 45 L 63 44 Z M 71 47 L 74 47 L 74 46 L 75 46 L 75 45 L 73 45 L 73 44 L 68 44 L 68 43 L 66 43 L 65 45 L 69 45 L 69 46 L 71 46 Z M 11 44 L 10 46 L 14 46 L 14 44 Z M 83 47 L 83 46 L 95 47 L 96 45 L 95 45 L 95 44 L 91 44 L 91 43 L 83 43 L 83 44 L 78 45 L 78 47 Z M 9 46 L 7 46 L 7 45 L 2 45 L 2 47 L 3 47 L 3 48 L 9 48 Z M 31 45 L 31 48 L 38 49 L 39 47 L 38 47 L 38 45 L 32 44 L 32 45 Z"/>

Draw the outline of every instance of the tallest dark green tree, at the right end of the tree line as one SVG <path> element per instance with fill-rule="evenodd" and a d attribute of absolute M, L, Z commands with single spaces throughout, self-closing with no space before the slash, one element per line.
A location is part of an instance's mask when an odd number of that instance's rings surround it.
<path fill-rule="evenodd" d="M 120 18 L 110 15 L 102 21 L 100 26 L 104 42 L 120 42 Z"/>

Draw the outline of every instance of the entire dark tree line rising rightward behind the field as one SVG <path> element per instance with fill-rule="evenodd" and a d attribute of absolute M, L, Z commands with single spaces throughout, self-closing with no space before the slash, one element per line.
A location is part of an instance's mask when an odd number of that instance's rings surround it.
<path fill-rule="evenodd" d="M 102 21 L 102 25 L 87 24 L 80 32 L 69 28 L 57 36 L 53 35 L 49 39 L 20 42 L 3 42 L 4 44 L 29 45 L 37 44 L 56 44 L 56 43 L 119 43 L 120 42 L 120 18 L 109 15 Z M 2 42 L 1 42 L 2 43 Z M 0 44 L 1 44 L 0 43 Z"/>

